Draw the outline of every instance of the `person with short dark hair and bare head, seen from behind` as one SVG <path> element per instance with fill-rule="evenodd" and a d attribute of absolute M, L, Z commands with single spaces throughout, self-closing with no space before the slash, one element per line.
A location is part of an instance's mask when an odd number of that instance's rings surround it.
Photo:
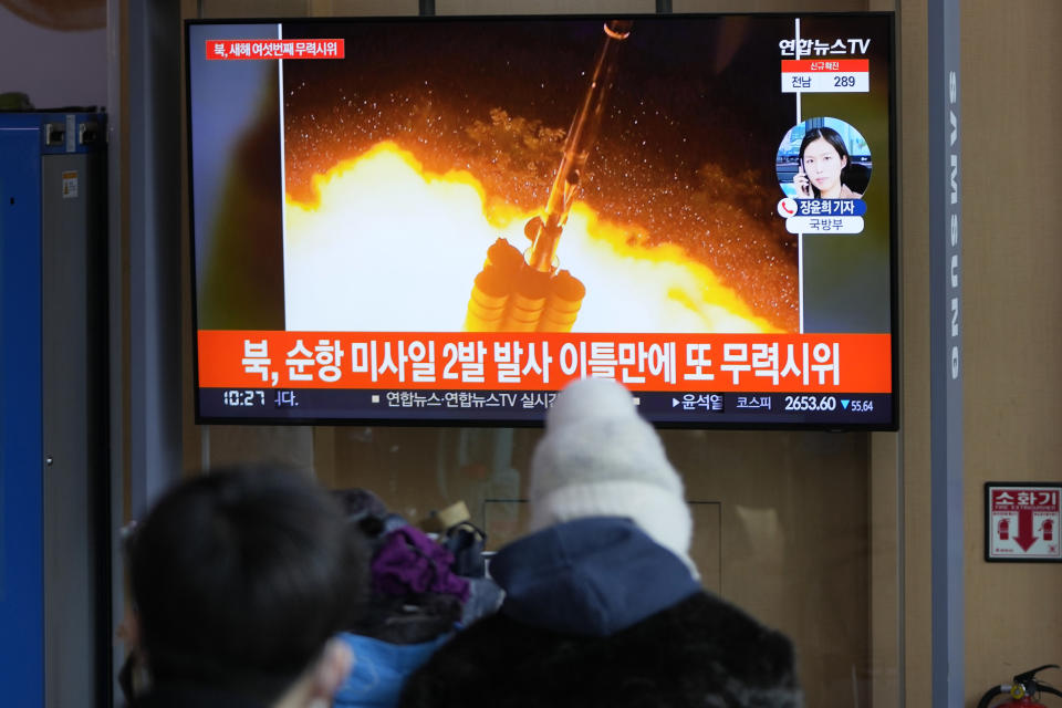
<path fill-rule="evenodd" d="M 149 675 L 133 706 L 316 706 L 350 671 L 330 638 L 364 603 L 367 550 L 308 477 L 244 466 L 191 478 L 126 551 Z"/>

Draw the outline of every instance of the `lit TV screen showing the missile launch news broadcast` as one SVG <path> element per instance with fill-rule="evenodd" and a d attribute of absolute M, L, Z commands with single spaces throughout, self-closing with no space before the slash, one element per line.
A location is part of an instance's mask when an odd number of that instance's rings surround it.
<path fill-rule="evenodd" d="M 185 29 L 199 421 L 895 428 L 892 13 Z"/>

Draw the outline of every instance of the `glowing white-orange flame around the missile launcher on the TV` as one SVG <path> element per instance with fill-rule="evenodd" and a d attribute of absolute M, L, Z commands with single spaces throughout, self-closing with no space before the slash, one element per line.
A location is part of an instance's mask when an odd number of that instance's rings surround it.
<path fill-rule="evenodd" d="M 488 198 L 467 171 L 427 171 L 391 142 L 315 176 L 313 190 L 313 204 L 285 199 L 289 330 L 459 331 L 488 248 L 503 238 L 522 251 L 541 216 Z M 683 248 L 644 240 L 573 206 L 559 254 L 586 287 L 577 331 L 778 331 Z"/>

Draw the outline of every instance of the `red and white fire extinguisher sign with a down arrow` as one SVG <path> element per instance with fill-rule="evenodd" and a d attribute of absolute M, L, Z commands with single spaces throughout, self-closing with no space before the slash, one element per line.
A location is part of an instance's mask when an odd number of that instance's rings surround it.
<path fill-rule="evenodd" d="M 985 560 L 1062 562 L 1062 483 L 985 483 Z"/>

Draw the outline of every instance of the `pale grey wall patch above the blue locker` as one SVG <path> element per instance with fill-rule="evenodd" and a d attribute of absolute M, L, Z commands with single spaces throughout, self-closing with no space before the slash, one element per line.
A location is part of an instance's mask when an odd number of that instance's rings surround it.
<path fill-rule="evenodd" d="M 0 93 L 29 94 L 37 108 L 107 102 L 107 31 L 46 30 L 0 7 Z"/>

